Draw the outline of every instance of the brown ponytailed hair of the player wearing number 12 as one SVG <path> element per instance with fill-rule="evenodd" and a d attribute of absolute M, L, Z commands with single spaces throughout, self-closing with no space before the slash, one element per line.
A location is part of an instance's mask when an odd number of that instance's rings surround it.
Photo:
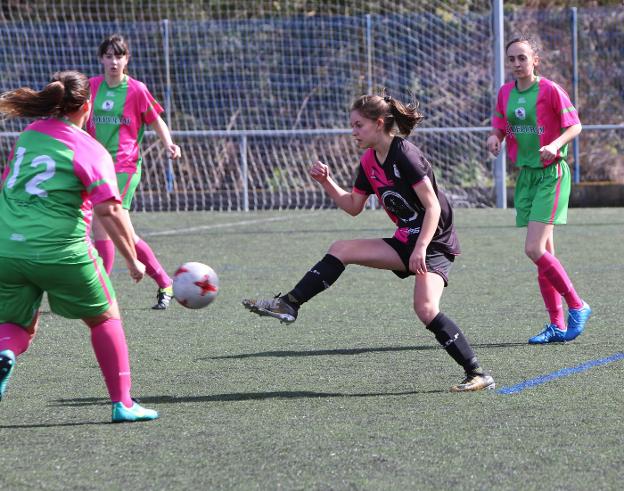
<path fill-rule="evenodd" d="M 76 112 L 91 97 L 89 79 L 67 70 L 52 75 L 42 90 L 21 87 L 0 95 L 0 113 L 7 117 L 65 116 Z"/>

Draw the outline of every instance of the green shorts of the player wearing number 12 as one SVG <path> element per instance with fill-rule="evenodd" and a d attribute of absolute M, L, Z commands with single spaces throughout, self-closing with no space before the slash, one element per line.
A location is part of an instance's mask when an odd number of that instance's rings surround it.
<path fill-rule="evenodd" d="M 0 322 L 30 325 L 44 292 L 52 312 L 68 319 L 103 314 L 115 300 L 99 257 L 78 264 L 0 257 Z"/>

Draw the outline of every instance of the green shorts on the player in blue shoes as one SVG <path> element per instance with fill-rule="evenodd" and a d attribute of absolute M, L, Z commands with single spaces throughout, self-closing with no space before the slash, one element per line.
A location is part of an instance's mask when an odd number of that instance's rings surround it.
<path fill-rule="evenodd" d="M 561 160 L 543 169 L 522 167 L 518 175 L 514 204 L 516 226 L 529 222 L 563 225 L 568 220 L 570 168 Z"/>

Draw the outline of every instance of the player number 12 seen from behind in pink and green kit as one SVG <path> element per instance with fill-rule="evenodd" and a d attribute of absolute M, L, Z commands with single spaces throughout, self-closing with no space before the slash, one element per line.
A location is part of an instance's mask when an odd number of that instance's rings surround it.
<path fill-rule="evenodd" d="M 111 157 L 81 129 L 90 110 L 89 80 L 74 71 L 56 73 L 40 92 L 22 88 L 0 97 L 1 113 L 44 118 L 20 134 L 0 184 L 0 398 L 35 335 L 47 292 L 53 312 L 89 326 L 113 422 L 155 419 L 156 411 L 130 397 L 115 291 L 88 237 L 95 210 L 131 277 L 143 277 Z"/>

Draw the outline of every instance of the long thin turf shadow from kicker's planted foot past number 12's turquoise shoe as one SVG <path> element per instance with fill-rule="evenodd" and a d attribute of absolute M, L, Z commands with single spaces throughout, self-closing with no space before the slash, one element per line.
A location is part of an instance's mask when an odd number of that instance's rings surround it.
<path fill-rule="evenodd" d="M 436 390 L 409 390 L 402 392 L 315 392 L 310 390 L 276 390 L 270 392 L 233 392 L 229 394 L 213 394 L 200 396 L 147 396 L 141 397 L 141 404 L 179 404 L 193 402 L 242 402 L 262 401 L 267 399 L 322 399 L 326 397 L 395 397 L 417 394 L 447 394 L 449 391 Z M 57 399 L 50 403 L 56 407 L 80 407 L 109 405 L 110 401 L 104 398 L 85 397 L 81 399 Z M 2 428 L 0 426 L 0 428 Z"/>

